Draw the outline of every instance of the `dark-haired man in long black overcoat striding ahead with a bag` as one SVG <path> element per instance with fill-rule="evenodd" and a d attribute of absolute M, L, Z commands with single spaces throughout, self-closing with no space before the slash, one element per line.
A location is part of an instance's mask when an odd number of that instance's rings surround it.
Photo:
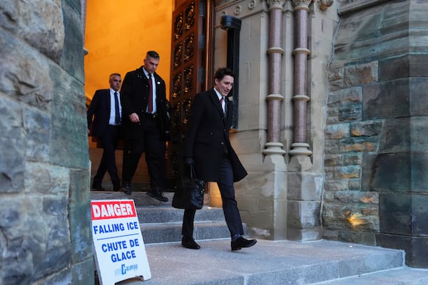
<path fill-rule="evenodd" d="M 201 180 L 218 184 L 233 251 L 252 247 L 257 242 L 255 239 L 242 237 L 243 223 L 233 187 L 233 182 L 242 180 L 247 175 L 229 138 L 233 105 L 228 101 L 227 95 L 233 87 L 234 78 L 233 71 L 219 68 L 215 72 L 214 88 L 195 95 L 183 146 L 185 165 L 194 167 L 196 176 Z M 194 217 L 194 209 L 185 209 L 181 244 L 188 249 L 200 249 L 193 239 Z"/>

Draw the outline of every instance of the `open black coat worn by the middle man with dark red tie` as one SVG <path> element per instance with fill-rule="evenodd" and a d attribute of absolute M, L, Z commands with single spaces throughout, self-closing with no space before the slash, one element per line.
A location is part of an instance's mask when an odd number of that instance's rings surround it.
<path fill-rule="evenodd" d="M 168 138 L 170 133 L 170 103 L 166 99 L 165 81 L 153 73 L 156 82 L 156 108 L 161 118 L 161 135 Z M 122 122 L 126 128 L 126 134 L 131 138 L 142 139 L 144 135 L 143 120 L 148 105 L 150 89 L 148 78 L 144 74 L 143 66 L 135 71 L 126 73 L 121 87 Z M 141 123 L 131 123 L 129 115 L 136 113 Z"/>

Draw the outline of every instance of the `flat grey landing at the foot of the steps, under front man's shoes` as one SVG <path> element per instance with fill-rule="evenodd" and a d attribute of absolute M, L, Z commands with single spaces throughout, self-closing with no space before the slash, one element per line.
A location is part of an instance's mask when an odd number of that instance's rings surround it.
<path fill-rule="evenodd" d="M 403 252 L 394 249 L 326 240 L 258 240 L 254 247 L 237 252 L 230 251 L 230 239 L 198 244 L 199 250 L 179 243 L 146 244 L 152 278 L 118 284 L 428 284 L 428 270 L 403 266 Z"/>

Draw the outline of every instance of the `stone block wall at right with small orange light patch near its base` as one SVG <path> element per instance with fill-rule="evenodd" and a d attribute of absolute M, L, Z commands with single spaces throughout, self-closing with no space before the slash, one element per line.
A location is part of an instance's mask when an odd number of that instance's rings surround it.
<path fill-rule="evenodd" d="M 428 267 L 428 2 L 364 2 L 341 7 L 329 70 L 324 237 Z"/>

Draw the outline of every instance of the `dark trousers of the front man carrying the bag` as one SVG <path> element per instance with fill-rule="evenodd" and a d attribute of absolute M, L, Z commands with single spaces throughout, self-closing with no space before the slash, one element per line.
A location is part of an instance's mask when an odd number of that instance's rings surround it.
<path fill-rule="evenodd" d="M 223 202 L 223 213 L 226 224 L 228 224 L 230 237 L 244 234 L 243 222 L 238 210 L 238 203 L 235 200 L 235 188 L 233 187 L 233 170 L 230 160 L 223 158 L 220 166 L 220 180 L 217 182 L 220 189 L 221 200 Z M 183 227 L 181 234 L 185 237 L 193 237 L 193 221 L 195 219 L 195 209 L 185 209 L 183 215 Z"/>

